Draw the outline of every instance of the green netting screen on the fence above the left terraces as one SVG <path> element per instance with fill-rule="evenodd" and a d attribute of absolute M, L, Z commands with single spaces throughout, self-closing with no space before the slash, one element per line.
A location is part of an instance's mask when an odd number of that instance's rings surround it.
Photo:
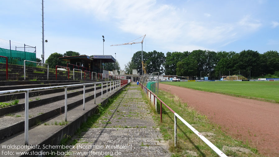
<path fill-rule="evenodd" d="M 0 56 L 8 57 L 9 64 L 23 65 L 24 60 L 36 62 L 36 53 L 0 48 Z M 6 59 L 1 57 L 0 62 L 6 63 Z M 35 67 L 36 63 L 26 62 L 26 66 Z"/>

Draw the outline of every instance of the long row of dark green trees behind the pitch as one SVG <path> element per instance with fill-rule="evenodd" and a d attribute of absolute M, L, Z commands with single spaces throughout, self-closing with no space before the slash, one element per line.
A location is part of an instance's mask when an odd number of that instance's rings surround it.
<path fill-rule="evenodd" d="M 219 76 L 241 75 L 245 77 L 272 78 L 279 76 L 279 53 L 267 51 L 263 54 L 253 50 L 210 51 L 194 50 L 192 52 L 167 52 L 166 56 L 156 50 L 143 52 L 147 73 L 160 72 L 160 75 L 178 76 Z M 141 51 L 134 53 L 130 62 L 125 65 L 126 73 L 130 69 L 141 71 Z M 250 75 L 251 74 L 251 75 Z"/>

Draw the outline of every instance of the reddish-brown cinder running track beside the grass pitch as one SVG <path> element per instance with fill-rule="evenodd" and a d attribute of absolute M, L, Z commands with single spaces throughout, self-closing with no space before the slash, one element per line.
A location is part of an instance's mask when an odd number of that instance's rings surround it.
<path fill-rule="evenodd" d="M 260 154 L 279 157 L 279 104 L 165 84 L 159 88 L 176 94 L 236 140 L 250 142 Z"/>

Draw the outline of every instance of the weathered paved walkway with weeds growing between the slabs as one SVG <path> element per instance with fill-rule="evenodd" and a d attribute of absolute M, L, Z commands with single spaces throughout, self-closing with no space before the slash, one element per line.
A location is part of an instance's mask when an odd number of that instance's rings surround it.
<path fill-rule="evenodd" d="M 67 156 L 171 156 L 168 143 L 156 127 L 149 105 L 134 82 L 81 138 Z"/>

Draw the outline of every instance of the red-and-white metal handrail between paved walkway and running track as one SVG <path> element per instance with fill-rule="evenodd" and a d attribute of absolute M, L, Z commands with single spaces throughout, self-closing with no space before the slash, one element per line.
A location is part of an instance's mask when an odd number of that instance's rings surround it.
<path fill-rule="evenodd" d="M 155 105 L 155 97 L 161 102 L 160 105 L 160 121 L 162 122 L 162 104 L 164 104 L 167 109 L 169 109 L 174 114 L 174 146 L 176 147 L 177 143 L 177 120 L 176 118 L 180 119 L 190 130 L 192 130 L 201 140 L 204 141 L 213 151 L 215 151 L 220 157 L 227 157 L 219 148 L 217 148 L 213 143 L 211 143 L 207 138 L 205 138 L 201 133 L 199 133 L 194 127 L 192 127 L 188 122 L 186 122 L 183 118 L 181 118 L 176 112 L 174 112 L 167 104 L 165 104 L 161 99 L 158 98 L 151 90 L 147 89 L 144 85 L 140 83 L 141 89 L 143 89 L 147 95 L 150 93 L 150 102 L 151 102 L 151 94 L 154 96 L 153 102 Z M 157 100 L 156 100 L 157 103 Z M 157 104 L 156 104 L 157 105 Z"/>

